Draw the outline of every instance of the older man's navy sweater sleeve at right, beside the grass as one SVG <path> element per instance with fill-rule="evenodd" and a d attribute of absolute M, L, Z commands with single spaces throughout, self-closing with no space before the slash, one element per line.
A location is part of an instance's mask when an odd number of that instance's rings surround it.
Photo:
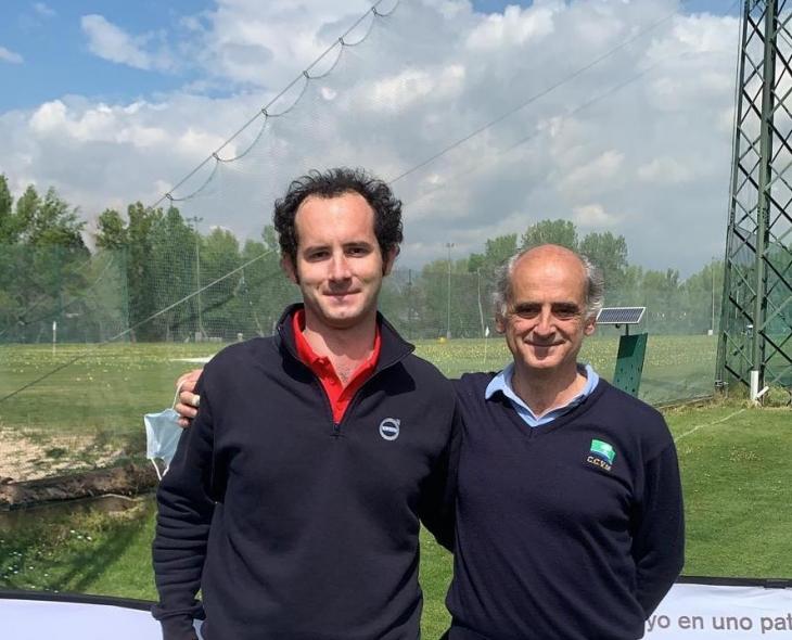
<path fill-rule="evenodd" d="M 633 556 L 637 598 L 647 618 L 663 600 L 685 562 L 685 516 L 679 465 L 670 443 L 644 469 L 643 500 Z"/>

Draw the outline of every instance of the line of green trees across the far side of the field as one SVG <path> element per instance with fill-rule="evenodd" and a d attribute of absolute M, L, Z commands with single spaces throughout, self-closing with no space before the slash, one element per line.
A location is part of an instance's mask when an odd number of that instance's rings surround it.
<path fill-rule="evenodd" d="M 124 214 L 104 210 L 91 235 L 89 249 L 86 221 L 53 189 L 40 195 L 30 185 L 14 202 L 0 175 L 0 342 L 229 341 L 269 334 L 298 298 L 270 226 L 240 242 L 227 229 L 201 233 L 175 206 L 133 203 Z M 647 270 L 628 263 L 624 236 L 580 238 L 569 220 L 491 238 L 482 253 L 397 269 L 381 308 L 411 338 L 481 337 L 491 330 L 498 267 L 546 242 L 588 255 L 604 272 L 606 305 L 646 306 L 653 333 L 705 333 L 719 317 L 723 263 L 687 279 Z"/>

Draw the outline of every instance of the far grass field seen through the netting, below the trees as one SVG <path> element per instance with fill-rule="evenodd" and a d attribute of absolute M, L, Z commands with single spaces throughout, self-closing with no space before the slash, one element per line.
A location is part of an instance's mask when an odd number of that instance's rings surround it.
<path fill-rule="evenodd" d="M 584 343 L 582 358 L 610 379 L 618 338 L 612 330 L 603 333 Z M 221 346 L 69 344 L 53 354 L 50 345 L 0 345 L 0 441 L 24 437 L 40 445 L 44 452 L 35 464 L 44 471 L 55 461 L 58 469 L 65 466 L 69 457 L 85 469 L 106 464 L 112 456 L 139 456 L 142 414 L 169 406 L 176 377 L 199 367 L 182 359 L 212 356 Z M 449 376 L 497 370 L 510 359 L 500 336 L 416 346 L 419 356 Z M 714 369 L 714 338 L 650 336 L 641 397 L 657 404 L 705 395 L 712 392 Z"/>

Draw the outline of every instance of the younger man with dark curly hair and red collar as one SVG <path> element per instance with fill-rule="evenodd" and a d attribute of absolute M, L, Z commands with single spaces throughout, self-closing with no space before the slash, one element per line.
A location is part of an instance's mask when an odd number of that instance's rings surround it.
<path fill-rule="evenodd" d="M 401 204 L 361 171 L 311 172 L 276 203 L 303 304 L 218 354 L 157 492 L 166 640 L 414 640 L 419 520 L 450 545 L 450 383 L 376 311 Z"/>

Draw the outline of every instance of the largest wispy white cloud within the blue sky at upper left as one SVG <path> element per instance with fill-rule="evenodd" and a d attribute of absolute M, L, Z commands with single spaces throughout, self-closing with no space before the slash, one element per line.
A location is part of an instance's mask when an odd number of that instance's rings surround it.
<path fill-rule="evenodd" d="M 97 14 L 84 15 L 80 26 L 88 37 L 88 49 L 99 57 L 140 69 L 165 71 L 174 66 L 170 55 L 164 49 L 156 52 L 145 50 L 152 35 L 130 36 Z"/>

